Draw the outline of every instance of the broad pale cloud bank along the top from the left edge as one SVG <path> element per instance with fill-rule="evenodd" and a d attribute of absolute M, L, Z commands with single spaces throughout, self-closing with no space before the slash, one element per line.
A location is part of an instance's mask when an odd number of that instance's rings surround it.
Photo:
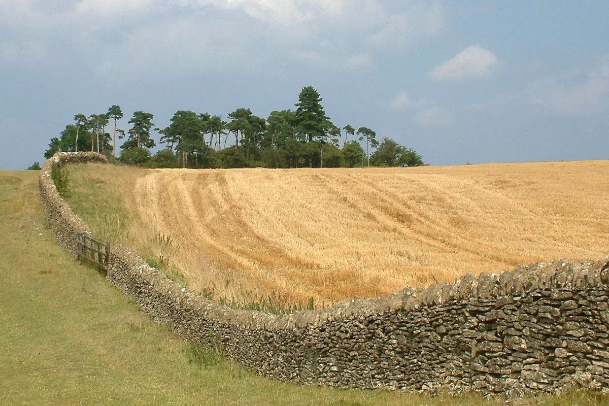
<path fill-rule="evenodd" d="M 416 0 L 0 0 L 0 4 L 0 34 L 10 38 L 10 43 L 0 44 L 1 51 L 12 65 L 40 60 L 40 55 L 48 66 L 62 66 L 73 55 L 81 60 L 108 55 L 91 66 L 100 74 L 136 72 L 142 63 L 147 63 L 147 71 L 162 74 L 252 71 L 277 61 L 335 71 L 358 69 L 373 65 L 375 56 L 386 48 L 415 46 L 432 37 L 442 28 L 445 15 L 440 2 Z M 202 47 L 195 49 L 193 44 Z"/>

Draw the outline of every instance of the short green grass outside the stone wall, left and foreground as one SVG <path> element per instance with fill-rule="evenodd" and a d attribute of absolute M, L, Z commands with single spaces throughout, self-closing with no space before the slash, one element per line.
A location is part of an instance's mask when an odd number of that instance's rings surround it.
<path fill-rule="evenodd" d="M 501 397 L 302 387 L 265 379 L 153 322 L 55 241 L 38 172 L 0 172 L 0 404 L 501 405 Z M 602 405 L 573 390 L 518 405 Z"/>

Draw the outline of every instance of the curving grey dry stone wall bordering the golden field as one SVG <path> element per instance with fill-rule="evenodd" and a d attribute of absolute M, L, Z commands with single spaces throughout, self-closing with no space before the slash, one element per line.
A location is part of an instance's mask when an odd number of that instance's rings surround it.
<path fill-rule="evenodd" d="M 105 158 L 58 153 L 40 177 L 46 215 L 72 254 L 77 231 L 89 229 L 58 196 L 50 172 L 87 161 Z M 119 245 L 107 278 L 179 334 L 205 345 L 220 341 L 230 359 L 275 379 L 415 391 L 518 394 L 574 383 L 609 391 L 607 259 L 466 275 L 291 315 L 220 306 Z"/>

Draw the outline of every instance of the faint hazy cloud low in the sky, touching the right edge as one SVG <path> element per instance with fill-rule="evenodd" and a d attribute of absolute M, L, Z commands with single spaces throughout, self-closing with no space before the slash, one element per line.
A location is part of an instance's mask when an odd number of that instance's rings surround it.
<path fill-rule="evenodd" d="M 609 55 L 589 68 L 574 68 L 533 82 L 529 100 L 560 114 L 596 113 L 609 101 Z"/>

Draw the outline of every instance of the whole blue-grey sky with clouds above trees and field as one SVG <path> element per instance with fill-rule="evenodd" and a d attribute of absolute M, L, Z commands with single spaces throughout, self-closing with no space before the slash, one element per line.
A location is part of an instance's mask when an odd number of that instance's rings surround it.
<path fill-rule="evenodd" d="M 607 1 L 0 0 L 0 167 L 76 113 L 266 117 L 308 85 L 431 164 L 607 159 L 607 21 Z"/>

